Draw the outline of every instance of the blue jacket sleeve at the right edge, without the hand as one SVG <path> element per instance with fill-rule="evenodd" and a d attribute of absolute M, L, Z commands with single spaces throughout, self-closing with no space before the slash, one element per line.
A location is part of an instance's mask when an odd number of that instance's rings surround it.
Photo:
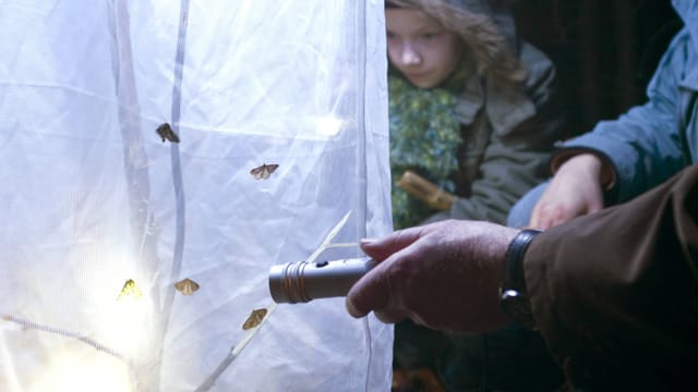
<path fill-rule="evenodd" d="M 590 133 L 566 142 L 569 149 L 592 150 L 613 163 L 616 203 L 662 183 L 686 166 L 681 146 L 681 83 L 696 61 L 686 29 L 672 40 L 647 88 L 648 101 L 614 121 L 601 121 Z"/>

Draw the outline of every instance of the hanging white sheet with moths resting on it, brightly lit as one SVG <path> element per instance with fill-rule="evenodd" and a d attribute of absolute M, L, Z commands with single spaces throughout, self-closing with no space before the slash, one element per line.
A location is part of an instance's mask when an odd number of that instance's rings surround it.
<path fill-rule="evenodd" d="M 333 228 L 322 258 L 390 230 L 383 23 L 380 0 L 3 0 L 0 390 L 388 390 L 390 327 L 267 287 Z"/>

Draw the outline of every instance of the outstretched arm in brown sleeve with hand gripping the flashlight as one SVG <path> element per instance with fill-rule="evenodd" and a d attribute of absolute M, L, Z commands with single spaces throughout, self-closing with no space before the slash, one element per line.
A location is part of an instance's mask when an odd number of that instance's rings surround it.
<path fill-rule="evenodd" d="M 381 262 L 350 290 L 347 309 L 449 331 L 502 328 L 498 287 L 517 233 L 450 220 L 364 242 Z M 539 234 L 524 272 L 535 326 L 577 382 L 698 388 L 698 166 Z"/>

